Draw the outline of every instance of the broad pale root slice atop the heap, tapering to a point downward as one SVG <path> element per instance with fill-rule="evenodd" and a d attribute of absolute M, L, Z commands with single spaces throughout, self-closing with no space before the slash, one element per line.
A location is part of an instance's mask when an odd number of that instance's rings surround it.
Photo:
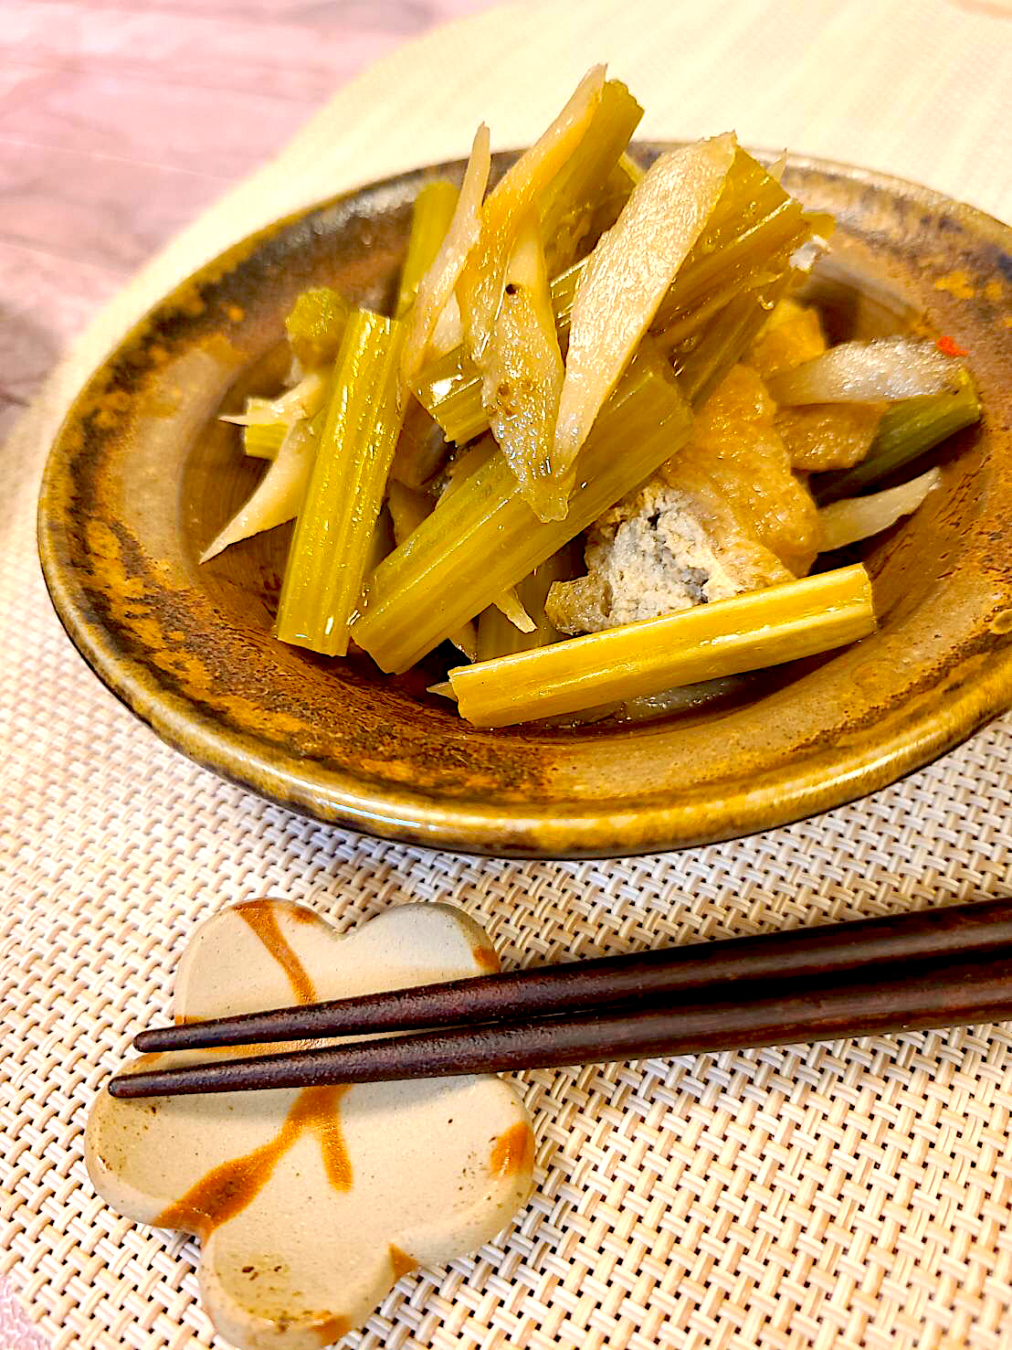
<path fill-rule="evenodd" d="M 590 255 L 576 290 L 552 451 L 564 478 L 661 300 L 710 219 L 731 167 L 733 134 L 661 155 Z"/>

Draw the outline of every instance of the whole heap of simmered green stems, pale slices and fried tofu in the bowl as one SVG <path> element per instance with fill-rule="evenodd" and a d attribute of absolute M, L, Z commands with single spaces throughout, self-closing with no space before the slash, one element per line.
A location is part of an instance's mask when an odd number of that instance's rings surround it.
<path fill-rule="evenodd" d="M 279 641 L 389 674 L 449 641 L 437 690 L 503 726 L 654 717 L 874 629 L 831 555 L 936 486 L 904 470 L 978 418 L 965 352 L 830 344 L 799 292 L 831 219 L 730 134 L 641 169 L 640 115 L 594 68 L 491 189 L 479 127 L 390 317 L 300 296 L 285 390 L 229 418 L 270 463 L 204 554 L 296 521 Z"/>

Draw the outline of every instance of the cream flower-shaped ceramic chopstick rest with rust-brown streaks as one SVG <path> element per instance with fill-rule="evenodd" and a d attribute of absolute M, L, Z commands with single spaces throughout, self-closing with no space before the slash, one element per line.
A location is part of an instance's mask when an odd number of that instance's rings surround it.
<path fill-rule="evenodd" d="M 497 967 L 482 929 L 448 906 L 405 905 L 339 938 L 312 910 L 252 900 L 197 930 L 174 1008 L 177 1019 L 225 1017 Z M 138 1068 L 250 1053 L 150 1054 Z M 364 1322 L 406 1272 L 494 1237 L 529 1195 L 533 1135 L 513 1087 L 491 1076 L 103 1092 L 86 1161 L 123 1214 L 200 1235 L 204 1304 L 223 1336 L 302 1350 Z"/>

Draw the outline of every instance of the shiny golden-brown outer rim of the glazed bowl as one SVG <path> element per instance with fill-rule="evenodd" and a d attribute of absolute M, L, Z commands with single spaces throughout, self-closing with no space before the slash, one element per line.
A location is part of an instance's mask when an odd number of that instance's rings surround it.
<path fill-rule="evenodd" d="M 675 140 L 634 142 L 641 150 L 677 146 Z M 764 150 L 760 158 L 775 158 Z M 509 151 L 502 155 L 510 154 Z M 447 166 L 420 166 L 390 178 L 363 184 L 273 221 L 197 269 L 181 286 L 157 301 L 138 324 L 92 371 L 67 409 L 53 440 L 42 475 L 38 502 L 38 551 L 50 599 L 70 641 L 103 683 L 162 740 L 189 759 L 258 795 L 337 828 L 425 848 L 491 857 L 598 859 L 625 857 L 742 838 L 793 824 L 808 815 L 845 806 L 928 765 L 1012 705 L 1012 647 L 996 652 L 989 668 L 974 680 L 947 688 L 934 707 L 919 710 L 873 745 L 839 749 L 827 772 L 824 764 L 793 772 L 779 771 L 776 780 L 725 792 L 721 817 L 708 817 L 700 830 L 699 806 L 640 802 L 626 810 L 602 803 L 537 809 L 495 806 L 467 798 L 434 798 L 401 786 L 372 786 L 348 770 L 313 767 L 306 774 L 297 755 L 258 753 L 251 733 L 223 728 L 165 688 L 151 688 L 131 670 L 128 659 L 103 645 L 73 563 L 62 545 L 65 532 L 57 509 L 58 485 L 65 471 L 61 447 L 67 428 L 85 405 L 89 392 L 107 375 L 119 354 L 143 329 L 151 315 L 194 281 L 221 275 L 223 265 L 266 242 L 314 212 L 331 209 L 376 189 L 391 189 Z M 908 180 L 816 155 L 787 154 L 787 169 L 815 171 L 865 184 L 880 192 L 915 198 L 927 208 L 957 207 L 978 231 L 1000 239 L 1012 251 L 1012 227 Z"/>

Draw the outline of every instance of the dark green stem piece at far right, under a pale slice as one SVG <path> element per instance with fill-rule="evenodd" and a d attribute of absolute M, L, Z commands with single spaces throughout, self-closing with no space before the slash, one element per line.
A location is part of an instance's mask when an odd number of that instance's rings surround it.
<path fill-rule="evenodd" d="M 812 495 L 820 506 L 842 497 L 860 497 L 955 432 L 972 427 L 980 417 L 977 387 L 963 369 L 955 393 L 927 394 L 893 404 L 878 424 L 868 458 L 853 468 L 816 474 L 811 479 Z"/>

